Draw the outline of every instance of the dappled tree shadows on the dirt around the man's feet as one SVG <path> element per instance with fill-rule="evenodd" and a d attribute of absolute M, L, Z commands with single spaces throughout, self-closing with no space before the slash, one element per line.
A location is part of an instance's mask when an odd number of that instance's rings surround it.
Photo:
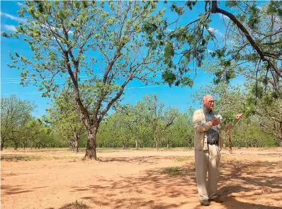
<path fill-rule="evenodd" d="M 140 160 L 140 157 L 115 159 L 128 163 Z M 145 163 L 158 160 L 159 157 L 150 157 Z M 219 179 L 219 193 L 225 202 L 212 202 L 210 208 L 281 209 L 281 161 L 222 162 Z M 170 170 L 169 167 L 147 169 L 138 176 L 96 179 L 87 188 L 75 186 L 72 189 L 74 193 L 91 191 L 92 195 L 82 200 L 92 208 L 207 208 L 199 204 L 193 161 Z M 261 195 L 266 197 L 264 202 L 261 202 Z"/>

